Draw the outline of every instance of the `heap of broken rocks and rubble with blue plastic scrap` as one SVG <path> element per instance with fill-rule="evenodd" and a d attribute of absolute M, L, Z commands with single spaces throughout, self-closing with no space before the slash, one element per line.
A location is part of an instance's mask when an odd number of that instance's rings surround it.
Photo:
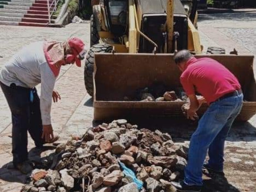
<path fill-rule="evenodd" d="M 60 143 L 32 172 L 23 192 L 171 192 L 182 177 L 188 148 L 168 133 L 119 119 Z M 124 172 L 126 169 L 132 174 Z M 143 187 L 136 183 L 143 184 Z"/>

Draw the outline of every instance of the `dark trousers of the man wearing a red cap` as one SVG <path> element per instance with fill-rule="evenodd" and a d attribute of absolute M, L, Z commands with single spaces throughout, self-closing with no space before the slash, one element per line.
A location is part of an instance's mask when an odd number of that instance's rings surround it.
<path fill-rule="evenodd" d="M 35 88 L 28 89 L 15 84 L 9 87 L 1 82 L 0 86 L 12 112 L 12 154 L 13 164 L 16 165 L 28 159 L 27 131 L 37 147 L 43 145 L 40 99 Z M 33 101 L 30 100 L 31 91 Z"/>

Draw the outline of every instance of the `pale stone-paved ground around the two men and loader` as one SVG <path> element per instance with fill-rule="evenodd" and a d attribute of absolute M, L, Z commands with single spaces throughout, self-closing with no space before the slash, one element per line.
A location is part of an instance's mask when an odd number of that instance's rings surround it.
<path fill-rule="evenodd" d="M 256 54 L 256 10 L 250 12 L 200 14 L 198 28 L 204 52 L 208 46 L 220 46 L 227 52 L 236 48 L 241 54 Z M 0 26 L 1 37 L 0 68 L 22 45 L 46 39 L 65 40 L 69 36 L 78 36 L 86 44 L 89 42 L 89 23 L 69 24 L 66 28 L 35 28 Z M 92 126 L 92 99 L 85 94 L 84 69 L 67 66 L 61 69 L 56 90 L 61 100 L 52 105 L 52 124 L 61 139 L 71 135 L 83 134 L 87 127 Z M 40 89 L 40 86 L 38 87 Z M 12 161 L 11 154 L 11 119 L 10 111 L 0 91 L 0 191 L 18 192 L 26 175 L 6 168 Z M 232 130 L 228 141 L 225 173 L 230 185 L 240 191 L 256 191 L 256 117 L 247 124 L 237 124 Z M 193 130 L 191 130 L 192 132 Z M 184 140 L 189 140 L 190 133 Z M 34 144 L 29 139 L 31 158 L 36 156 Z M 43 154 L 41 154 L 43 155 Z M 238 163 L 236 163 L 238 162 Z M 239 191 L 237 190 L 237 191 Z"/>

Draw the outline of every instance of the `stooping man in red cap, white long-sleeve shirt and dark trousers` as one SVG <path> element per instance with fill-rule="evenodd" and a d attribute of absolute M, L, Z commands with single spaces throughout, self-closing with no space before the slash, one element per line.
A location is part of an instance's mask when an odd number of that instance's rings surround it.
<path fill-rule="evenodd" d="M 23 47 L 0 72 L 0 86 L 12 112 L 13 165 L 23 173 L 32 170 L 28 161 L 27 131 L 36 147 L 54 140 L 51 125 L 54 84 L 62 65 L 84 59 L 84 43 L 77 37 L 65 42 L 40 41 Z M 41 83 L 40 99 L 35 86 Z"/>

